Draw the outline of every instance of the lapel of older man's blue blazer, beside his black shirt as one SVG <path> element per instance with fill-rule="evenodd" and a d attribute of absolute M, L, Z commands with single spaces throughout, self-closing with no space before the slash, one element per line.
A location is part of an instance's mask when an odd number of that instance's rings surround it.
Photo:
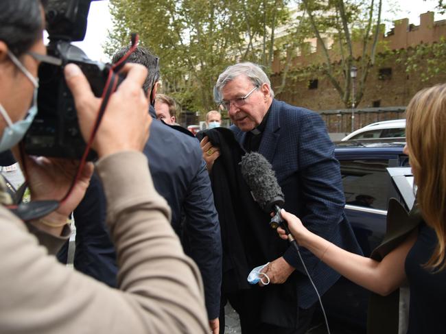
<path fill-rule="evenodd" d="M 273 99 L 270 108 L 271 110 L 270 115 L 268 116 L 268 121 L 266 122 L 266 128 L 261 137 L 259 153 L 272 164 L 277 142 L 279 141 L 280 103 L 276 99 Z"/>

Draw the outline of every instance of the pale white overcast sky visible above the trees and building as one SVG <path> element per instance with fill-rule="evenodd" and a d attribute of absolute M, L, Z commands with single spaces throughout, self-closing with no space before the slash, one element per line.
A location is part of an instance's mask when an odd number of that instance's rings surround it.
<path fill-rule="evenodd" d="M 407 17 L 410 23 L 419 25 L 419 15 L 429 10 L 434 11 L 437 0 L 384 0 L 382 17 L 391 22 Z M 446 15 L 435 14 L 435 21 L 446 19 Z M 75 43 L 93 60 L 108 61 L 102 47 L 106 40 L 107 29 L 112 25 L 108 12 L 108 0 L 93 1 L 89 12 L 89 25 L 87 26 L 85 39 Z M 387 25 L 389 27 L 389 24 Z"/>

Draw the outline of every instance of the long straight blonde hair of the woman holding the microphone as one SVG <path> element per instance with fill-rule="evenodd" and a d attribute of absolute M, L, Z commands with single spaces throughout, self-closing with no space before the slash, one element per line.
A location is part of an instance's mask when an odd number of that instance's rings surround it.
<path fill-rule="evenodd" d="M 443 270 L 446 243 L 446 84 L 419 91 L 407 108 L 409 160 L 416 198 L 438 244 L 426 266 Z"/>

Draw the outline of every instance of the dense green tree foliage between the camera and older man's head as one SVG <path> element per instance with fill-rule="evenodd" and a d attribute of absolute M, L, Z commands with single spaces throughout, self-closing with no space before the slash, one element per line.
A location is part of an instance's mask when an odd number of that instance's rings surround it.
<path fill-rule="evenodd" d="M 163 92 L 183 108 L 215 108 L 213 86 L 235 61 L 270 67 L 274 30 L 287 20 L 284 0 L 111 0 L 113 55 L 138 32 L 141 45 L 160 58 Z"/>

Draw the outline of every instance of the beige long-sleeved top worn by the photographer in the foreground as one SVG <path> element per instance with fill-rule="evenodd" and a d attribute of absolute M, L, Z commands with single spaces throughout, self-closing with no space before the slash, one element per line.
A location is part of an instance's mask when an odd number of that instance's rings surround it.
<path fill-rule="evenodd" d="M 205 333 L 202 282 L 169 224 L 147 158 L 97 163 L 117 249 L 119 289 L 60 265 L 0 207 L 0 333 Z"/>

